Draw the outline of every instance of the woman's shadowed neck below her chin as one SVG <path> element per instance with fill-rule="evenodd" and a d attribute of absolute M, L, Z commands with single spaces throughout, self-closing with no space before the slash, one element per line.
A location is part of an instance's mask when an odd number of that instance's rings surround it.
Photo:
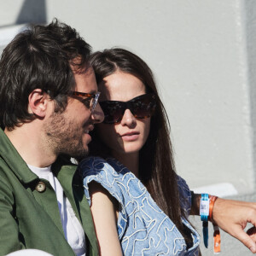
<path fill-rule="evenodd" d="M 121 164 L 127 167 L 136 177 L 138 177 L 139 172 L 139 154 L 130 153 L 130 154 L 119 154 L 117 152 L 112 152 L 112 155 L 115 159 L 119 160 Z"/>

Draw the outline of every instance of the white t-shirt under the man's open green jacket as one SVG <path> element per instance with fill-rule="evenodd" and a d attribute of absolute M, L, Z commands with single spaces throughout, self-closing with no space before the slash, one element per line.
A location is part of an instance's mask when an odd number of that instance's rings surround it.
<path fill-rule="evenodd" d="M 32 172 L 38 175 L 38 177 L 48 180 L 52 188 L 55 190 L 65 238 L 77 256 L 84 256 L 85 237 L 83 227 L 80 224 L 79 219 L 75 216 L 75 212 L 73 212 L 73 208 L 68 201 L 67 196 L 64 195 L 61 183 L 51 172 L 51 166 L 44 168 L 30 165 L 27 166 Z"/>

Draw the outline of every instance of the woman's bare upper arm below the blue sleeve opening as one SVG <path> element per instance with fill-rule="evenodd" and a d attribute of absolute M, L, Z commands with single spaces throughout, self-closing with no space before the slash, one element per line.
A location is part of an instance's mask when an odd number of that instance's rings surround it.
<path fill-rule="evenodd" d="M 89 184 L 90 211 L 95 224 L 101 256 L 123 255 L 117 231 L 118 202 L 101 184 Z"/>

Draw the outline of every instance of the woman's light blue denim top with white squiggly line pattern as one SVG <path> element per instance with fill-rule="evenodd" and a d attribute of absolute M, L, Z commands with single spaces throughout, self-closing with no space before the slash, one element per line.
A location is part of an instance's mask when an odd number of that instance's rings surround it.
<path fill-rule="evenodd" d="M 84 177 L 84 193 L 90 204 L 88 184 L 101 183 L 119 201 L 118 234 L 124 255 L 188 255 L 199 253 L 200 238 L 189 222 L 193 245 L 187 250 L 183 236 L 172 220 L 156 205 L 143 183 L 117 160 L 89 157 L 79 164 Z M 182 207 L 189 214 L 191 194 L 185 181 L 178 177 Z"/>

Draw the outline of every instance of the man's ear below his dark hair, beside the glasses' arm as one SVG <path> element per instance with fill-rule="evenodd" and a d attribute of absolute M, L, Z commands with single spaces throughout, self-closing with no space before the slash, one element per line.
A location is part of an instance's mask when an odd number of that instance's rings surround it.
<path fill-rule="evenodd" d="M 34 113 L 39 118 L 44 118 L 49 102 L 49 95 L 41 89 L 32 90 L 28 96 L 28 113 Z"/>

